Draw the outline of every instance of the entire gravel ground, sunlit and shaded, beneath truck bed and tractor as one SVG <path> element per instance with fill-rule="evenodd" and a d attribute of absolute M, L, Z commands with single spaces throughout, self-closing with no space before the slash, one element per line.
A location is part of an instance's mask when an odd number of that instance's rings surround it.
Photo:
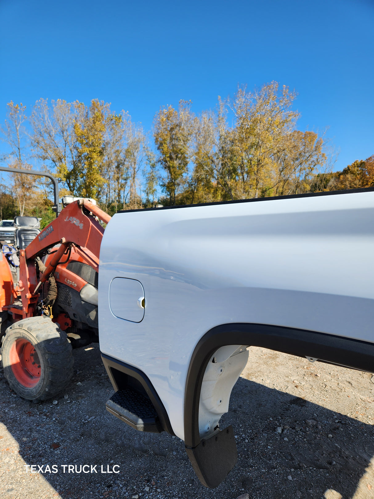
<path fill-rule="evenodd" d="M 180 439 L 138 433 L 106 411 L 113 389 L 98 345 L 74 350 L 75 376 L 55 405 L 21 400 L 1 372 L 0 497 L 373 499 L 374 377 L 249 350 L 221 419 L 234 427 L 238 464 L 215 490 L 200 485 Z M 61 466 L 85 464 L 98 473 Z"/>

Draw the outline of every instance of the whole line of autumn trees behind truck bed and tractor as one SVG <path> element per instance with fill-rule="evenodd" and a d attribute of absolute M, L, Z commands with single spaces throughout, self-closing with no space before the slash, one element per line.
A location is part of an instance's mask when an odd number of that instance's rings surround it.
<path fill-rule="evenodd" d="M 109 214 L 119 210 L 284 196 L 374 185 L 374 156 L 332 172 L 325 133 L 297 128 L 296 93 L 277 82 L 195 114 L 191 102 L 161 107 L 146 133 L 128 112 L 94 99 L 36 101 L 27 115 L 7 104 L 1 160 L 12 168 L 55 175 L 61 195 L 94 198 Z M 12 174 L 2 184 L 0 217 L 54 217 L 51 186 Z"/>

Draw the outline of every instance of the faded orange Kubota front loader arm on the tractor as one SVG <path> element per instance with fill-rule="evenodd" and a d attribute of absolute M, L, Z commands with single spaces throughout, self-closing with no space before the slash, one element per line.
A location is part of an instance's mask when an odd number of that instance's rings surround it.
<path fill-rule="evenodd" d="M 38 288 L 48 279 L 65 251 L 74 245 L 76 251 L 85 258 L 96 271 L 99 268 L 99 253 L 104 234 L 103 227 L 96 218 L 108 223 L 111 217 L 86 199 L 79 199 L 67 205 L 59 217 L 53 220 L 19 254 L 19 291 L 21 294 L 22 318 L 32 317 L 38 300 Z M 37 282 L 35 258 L 42 251 L 61 244 L 53 255 L 46 270 Z M 14 312 L 14 310 L 12 310 Z"/>

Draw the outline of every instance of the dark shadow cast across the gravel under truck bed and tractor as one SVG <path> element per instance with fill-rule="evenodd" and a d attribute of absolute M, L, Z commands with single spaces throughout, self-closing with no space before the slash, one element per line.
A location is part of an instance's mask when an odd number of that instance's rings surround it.
<path fill-rule="evenodd" d="M 74 357 L 74 378 L 56 405 L 21 400 L 0 381 L 2 423 L 25 464 L 57 465 L 58 473 L 43 477 L 63 499 L 231 499 L 244 493 L 250 499 L 320 499 L 329 489 L 349 499 L 373 457 L 371 425 L 239 378 L 220 425 L 234 428 L 238 463 L 217 489 L 207 490 L 180 439 L 138 433 L 105 410 L 113 389 L 99 347 L 75 350 Z M 79 471 L 85 464 L 96 465 L 98 473 L 68 474 L 66 469 L 64 474 L 61 468 L 77 465 Z M 120 473 L 102 474 L 101 465 L 104 471 L 118 465 Z M 7 480 L 14 482 L 14 497 L 27 497 L 18 471 Z"/>

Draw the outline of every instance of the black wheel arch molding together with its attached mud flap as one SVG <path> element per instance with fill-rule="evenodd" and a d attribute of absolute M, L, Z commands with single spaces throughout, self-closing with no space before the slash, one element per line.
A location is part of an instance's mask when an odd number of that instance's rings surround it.
<path fill-rule="evenodd" d="M 236 462 L 236 443 L 231 439 L 219 445 L 217 438 L 208 440 L 210 453 L 201 459 L 207 441 L 199 436 L 199 400 L 202 379 L 213 353 L 226 345 L 247 345 L 269 348 L 300 357 L 316 358 L 322 362 L 341 365 L 362 371 L 374 372 L 374 343 L 283 326 L 229 323 L 215 326 L 198 341 L 190 360 L 185 389 L 184 430 L 187 454 L 192 466 L 205 487 L 215 488 L 224 480 Z M 227 432 L 226 432 L 227 430 Z M 228 429 L 220 433 L 229 433 Z M 213 441 L 214 439 L 214 441 Z M 227 456 L 231 458 L 228 459 Z M 220 469 L 220 476 L 212 473 Z M 218 466 L 221 465 L 221 466 Z"/>

